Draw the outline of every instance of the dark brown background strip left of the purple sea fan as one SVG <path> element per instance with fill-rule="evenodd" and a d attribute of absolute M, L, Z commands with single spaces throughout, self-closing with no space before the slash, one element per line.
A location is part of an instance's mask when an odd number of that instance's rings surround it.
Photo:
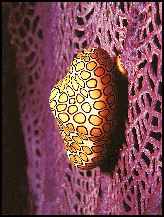
<path fill-rule="evenodd" d="M 1 3 L 2 37 L 2 205 L 1 213 L 27 214 L 27 176 L 24 138 L 16 96 L 15 51 L 9 43 L 9 8 Z"/>

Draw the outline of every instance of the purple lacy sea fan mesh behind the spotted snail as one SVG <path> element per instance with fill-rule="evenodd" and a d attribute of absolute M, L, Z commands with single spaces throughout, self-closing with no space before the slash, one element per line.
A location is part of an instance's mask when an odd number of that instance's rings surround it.
<path fill-rule="evenodd" d="M 29 212 L 160 214 L 162 3 L 9 6 L 8 27 L 16 48 L 17 96 L 28 158 Z M 81 171 L 68 163 L 49 109 L 52 86 L 66 75 L 73 56 L 85 47 L 101 47 L 111 57 L 119 53 L 128 71 L 125 142 L 111 174 L 99 167 Z"/>

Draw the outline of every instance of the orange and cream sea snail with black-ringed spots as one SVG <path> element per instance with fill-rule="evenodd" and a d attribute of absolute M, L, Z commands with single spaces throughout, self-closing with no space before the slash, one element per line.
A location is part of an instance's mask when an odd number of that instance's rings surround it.
<path fill-rule="evenodd" d="M 51 90 L 50 108 L 71 163 L 96 167 L 105 154 L 117 107 L 113 61 L 101 48 L 89 48 L 73 59 L 67 75 Z"/>

